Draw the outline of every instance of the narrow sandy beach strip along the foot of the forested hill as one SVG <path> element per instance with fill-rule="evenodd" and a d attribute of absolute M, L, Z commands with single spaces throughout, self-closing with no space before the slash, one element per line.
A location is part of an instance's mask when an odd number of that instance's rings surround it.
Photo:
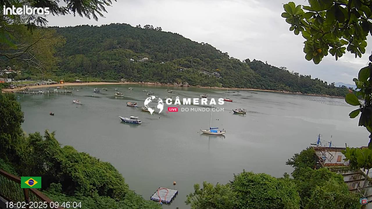
<path fill-rule="evenodd" d="M 17 87 L 15 89 L 2 89 L 1 92 L 12 92 L 12 91 L 22 91 L 25 88 L 29 87 L 30 89 L 40 89 L 45 87 L 57 87 L 57 86 L 94 86 L 94 85 L 122 85 L 122 84 L 142 84 L 142 85 L 153 85 L 153 86 L 174 86 L 173 84 L 161 84 L 161 83 L 150 83 L 150 82 L 85 82 L 85 83 L 63 83 L 63 84 L 51 84 L 51 85 L 41 85 L 41 86 L 26 86 L 26 87 Z M 209 87 L 209 86 L 190 86 L 196 88 L 203 88 L 203 89 L 219 89 L 219 90 L 226 90 L 227 88 L 223 87 Z M 187 88 L 187 87 L 186 87 Z M 286 93 L 286 94 L 302 94 L 301 92 L 289 92 L 289 91 L 277 91 L 277 90 L 265 90 L 265 89 L 240 89 L 240 88 L 229 88 L 230 90 L 248 90 L 248 91 L 269 91 L 269 92 L 277 92 L 277 93 Z M 319 94 L 302 94 L 308 96 L 323 96 L 323 97 L 335 97 L 335 98 L 344 98 L 344 97 L 337 97 L 337 96 L 329 96 L 329 95 L 319 95 Z"/>

